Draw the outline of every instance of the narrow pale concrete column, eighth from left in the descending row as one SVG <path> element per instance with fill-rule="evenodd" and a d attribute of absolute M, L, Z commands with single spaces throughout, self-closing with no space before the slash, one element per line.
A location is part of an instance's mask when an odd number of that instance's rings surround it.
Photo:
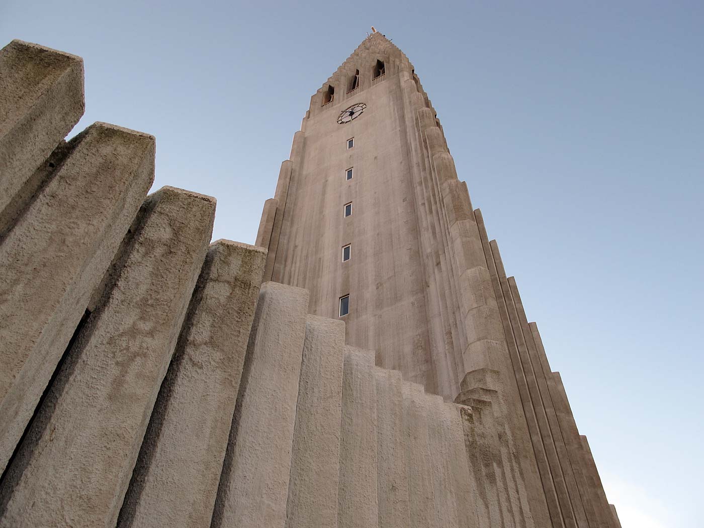
<path fill-rule="evenodd" d="M 401 372 L 376 367 L 379 526 L 407 528 L 408 472 Z"/>

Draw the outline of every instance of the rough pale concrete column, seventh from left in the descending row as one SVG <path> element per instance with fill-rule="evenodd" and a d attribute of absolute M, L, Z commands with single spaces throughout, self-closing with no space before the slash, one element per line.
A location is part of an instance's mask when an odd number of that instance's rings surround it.
<path fill-rule="evenodd" d="M 345 347 L 340 437 L 339 528 L 378 526 L 377 391 L 374 352 Z"/>

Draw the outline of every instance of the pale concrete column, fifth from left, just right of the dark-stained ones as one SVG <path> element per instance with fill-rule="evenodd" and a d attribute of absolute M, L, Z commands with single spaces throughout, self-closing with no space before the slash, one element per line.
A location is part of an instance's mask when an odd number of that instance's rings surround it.
<path fill-rule="evenodd" d="M 249 335 L 213 528 L 283 528 L 308 291 L 265 282 Z"/>

